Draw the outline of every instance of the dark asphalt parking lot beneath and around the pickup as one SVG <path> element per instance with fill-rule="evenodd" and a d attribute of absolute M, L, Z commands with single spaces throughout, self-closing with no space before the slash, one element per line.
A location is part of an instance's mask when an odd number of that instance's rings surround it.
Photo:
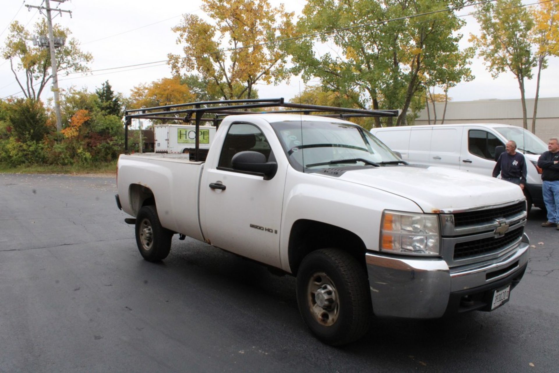
<path fill-rule="evenodd" d="M 192 239 L 145 262 L 113 178 L 0 174 L 0 372 L 551 372 L 559 231 L 534 208 L 528 271 L 491 313 L 307 332 L 295 280 Z"/>

